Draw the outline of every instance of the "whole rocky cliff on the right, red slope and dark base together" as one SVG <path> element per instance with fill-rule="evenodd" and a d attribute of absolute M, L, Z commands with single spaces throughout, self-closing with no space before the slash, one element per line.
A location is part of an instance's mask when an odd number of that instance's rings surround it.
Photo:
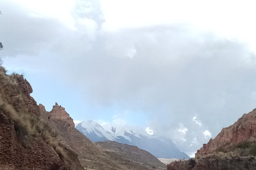
<path fill-rule="evenodd" d="M 244 114 L 233 125 L 223 128 L 196 153 L 196 159 L 172 162 L 167 170 L 255 169 L 256 109 Z"/>

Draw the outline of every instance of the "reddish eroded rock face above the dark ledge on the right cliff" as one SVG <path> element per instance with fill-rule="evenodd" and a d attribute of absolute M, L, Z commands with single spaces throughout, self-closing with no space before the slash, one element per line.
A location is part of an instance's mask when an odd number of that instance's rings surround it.
<path fill-rule="evenodd" d="M 244 114 L 233 125 L 223 128 L 216 138 L 210 139 L 207 144 L 197 150 L 196 157 L 214 151 L 220 147 L 230 147 L 241 141 L 256 136 L 256 109 Z"/>

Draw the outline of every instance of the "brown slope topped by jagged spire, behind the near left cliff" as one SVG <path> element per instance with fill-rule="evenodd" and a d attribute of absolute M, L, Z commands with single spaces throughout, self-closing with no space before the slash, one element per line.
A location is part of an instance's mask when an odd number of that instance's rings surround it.
<path fill-rule="evenodd" d="M 73 126 L 70 126 L 70 122 L 67 121 L 70 117 L 69 114 L 63 112 L 65 110 L 57 103 L 53 106 L 51 112 L 47 112 L 42 104 L 39 104 L 38 107 L 45 121 L 58 132 L 58 138 L 65 143 L 66 146 L 69 146 L 69 150 L 73 150 L 78 155 L 79 162 L 85 168 L 102 170 L 142 170 L 154 169 L 153 167 L 155 166 L 159 167 L 158 164 L 154 163 L 142 164 L 138 157 L 132 160 L 114 151 L 106 150 L 97 143 L 92 142 L 77 129 L 73 128 Z M 50 119 L 48 121 L 49 116 Z M 72 163 L 68 164 L 70 165 Z M 161 168 L 163 168 L 163 166 Z M 164 169 L 166 169 L 166 167 Z"/>

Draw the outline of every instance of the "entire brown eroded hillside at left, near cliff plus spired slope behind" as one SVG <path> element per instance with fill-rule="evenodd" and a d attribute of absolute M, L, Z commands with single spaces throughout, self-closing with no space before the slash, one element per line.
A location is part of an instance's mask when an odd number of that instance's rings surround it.
<path fill-rule="evenodd" d="M 0 169 L 155 169 L 103 149 L 57 103 L 37 106 L 22 75 L 0 66 Z"/>

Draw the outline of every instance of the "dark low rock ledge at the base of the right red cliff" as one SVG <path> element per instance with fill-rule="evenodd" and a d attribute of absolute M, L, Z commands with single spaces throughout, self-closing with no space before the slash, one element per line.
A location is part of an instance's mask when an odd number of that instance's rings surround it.
<path fill-rule="evenodd" d="M 226 158 L 226 159 L 189 159 L 183 162 L 172 162 L 167 170 L 253 170 L 256 167 L 256 157 Z"/>

